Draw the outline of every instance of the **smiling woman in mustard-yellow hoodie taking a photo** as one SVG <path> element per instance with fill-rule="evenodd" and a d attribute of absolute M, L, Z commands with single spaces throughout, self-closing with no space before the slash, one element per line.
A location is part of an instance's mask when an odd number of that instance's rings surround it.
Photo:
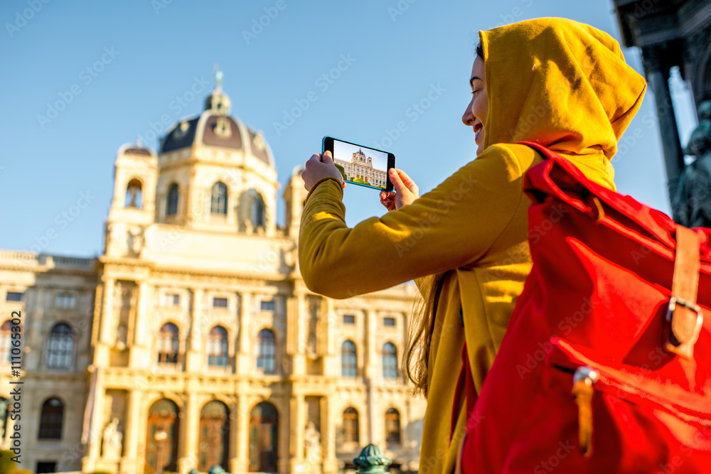
<path fill-rule="evenodd" d="M 461 350 L 466 342 L 478 393 L 530 272 L 522 183 L 542 157 L 516 143 L 537 141 L 615 190 L 610 160 L 646 90 L 619 44 L 582 23 L 538 18 L 480 31 L 479 41 L 462 117 L 474 131 L 474 161 L 421 197 L 405 173 L 391 171 L 396 193 L 380 196 L 390 212 L 352 229 L 331 156 L 311 156 L 301 175 L 309 195 L 299 264 L 309 289 L 348 298 L 415 279 L 423 294 L 407 354 L 428 402 L 422 473 L 454 469 L 466 422 Z"/>

